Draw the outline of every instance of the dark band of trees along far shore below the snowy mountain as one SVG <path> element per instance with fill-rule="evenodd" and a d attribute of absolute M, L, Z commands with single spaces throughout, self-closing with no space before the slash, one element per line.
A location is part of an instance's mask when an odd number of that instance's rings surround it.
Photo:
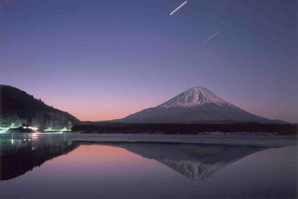
<path fill-rule="evenodd" d="M 171 123 L 97 123 L 77 124 L 73 132 L 128 134 L 266 134 L 297 135 L 297 124 L 171 124 Z"/>

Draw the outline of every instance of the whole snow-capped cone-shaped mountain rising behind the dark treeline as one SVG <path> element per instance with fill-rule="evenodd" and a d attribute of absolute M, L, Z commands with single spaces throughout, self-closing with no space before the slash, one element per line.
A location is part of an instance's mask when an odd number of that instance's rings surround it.
<path fill-rule="evenodd" d="M 286 123 L 249 113 L 202 87 L 191 88 L 160 105 L 113 121 L 124 123 Z"/>

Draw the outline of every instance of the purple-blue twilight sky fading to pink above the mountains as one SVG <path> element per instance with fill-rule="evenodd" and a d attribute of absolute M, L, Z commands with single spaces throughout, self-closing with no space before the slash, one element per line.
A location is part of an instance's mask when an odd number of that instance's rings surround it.
<path fill-rule="evenodd" d="M 206 87 L 298 122 L 297 0 L 188 0 L 171 16 L 184 0 L 0 2 L 0 84 L 80 120 Z"/>

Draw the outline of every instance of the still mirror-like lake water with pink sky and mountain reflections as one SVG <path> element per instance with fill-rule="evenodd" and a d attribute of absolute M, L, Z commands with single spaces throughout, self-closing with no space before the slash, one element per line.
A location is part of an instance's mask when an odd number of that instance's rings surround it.
<path fill-rule="evenodd" d="M 0 139 L 0 198 L 297 198 L 297 146 Z"/>

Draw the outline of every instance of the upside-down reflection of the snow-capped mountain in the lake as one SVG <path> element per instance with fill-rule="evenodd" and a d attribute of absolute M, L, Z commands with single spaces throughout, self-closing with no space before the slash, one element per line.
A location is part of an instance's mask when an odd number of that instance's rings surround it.
<path fill-rule="evenodd" d="M 118 143 L 144 158 L 154 159 L 192 180 L 204 180 L 252 153 L 272 147 L 182 143 Z"/>

